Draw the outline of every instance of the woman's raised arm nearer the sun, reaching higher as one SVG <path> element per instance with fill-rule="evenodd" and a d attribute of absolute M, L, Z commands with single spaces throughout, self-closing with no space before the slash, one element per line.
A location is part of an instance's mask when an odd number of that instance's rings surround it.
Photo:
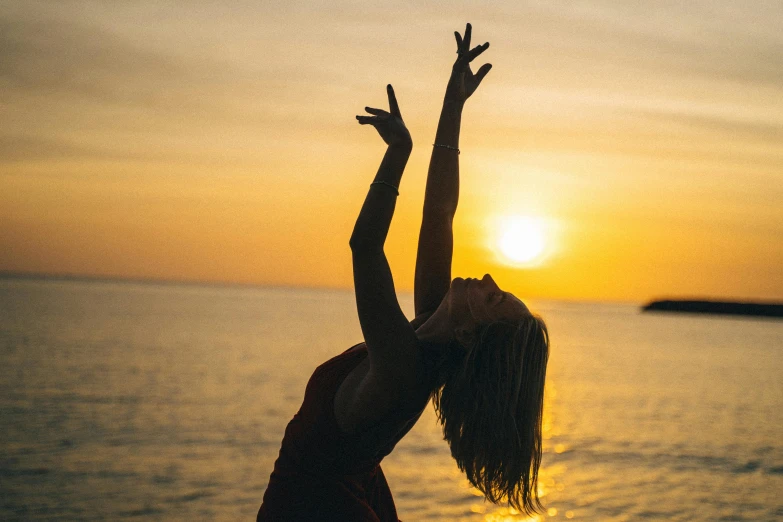
<path fill-rule="evenodd" d="M 451 257 L 454 250 L 452 222 L 459 200 L 459 132 L 462 109 L 492 65 L 482 65 L 474 75 L 470 62 L 489 47 L 489 43 L 470 49 L 472 28 L 467 24 L 464 38 L 454 32 L 458 57 L 446 87 L 438 130 L 435 134 L 424 212 L 416 254 L 414 303 L 416 316 L 435 311 L 451 284 Z M 453 147 L 453 148 L 447 148 Z"/>

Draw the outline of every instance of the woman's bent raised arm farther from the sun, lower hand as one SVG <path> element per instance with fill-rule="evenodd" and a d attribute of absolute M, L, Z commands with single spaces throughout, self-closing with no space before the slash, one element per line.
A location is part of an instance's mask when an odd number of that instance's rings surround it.
<path fill-rule="evenodd" d="M 396 187 L 413 147 L 391 85 L 387 92 L 389 112 L 366 107 L 373 116 L 356 117 L 362 125 L 375 127 L 388 149 L 356 220 L 350 246 L 356 308 L 370 362 L 373 368 L 388 375 L 409 367 L 407 363 L 409 357 L 415 356 L 417 341 L 416 332 L 397 302 L 383 251 L 397 200 Z"/>

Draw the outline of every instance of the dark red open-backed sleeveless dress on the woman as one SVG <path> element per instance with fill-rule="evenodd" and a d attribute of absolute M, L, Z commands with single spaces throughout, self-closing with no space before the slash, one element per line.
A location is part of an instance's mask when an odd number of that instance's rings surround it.
<path fill-rule="evenodd" d="M 381 460 L 421 416 L 426 400 L 402 405 L 370 428 L 344 433 L 334 397 L 367 357 L 356 345 L 316 368 L 285 430 L 257 521 L 397 522 Z"/>

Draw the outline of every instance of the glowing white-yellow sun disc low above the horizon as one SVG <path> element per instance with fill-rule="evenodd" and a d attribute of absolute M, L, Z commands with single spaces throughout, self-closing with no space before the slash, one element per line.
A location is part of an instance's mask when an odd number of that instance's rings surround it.
<path fill-rule="evenodd" d="M 507 216 L 500 220 L 496 249 L 506 264 L 534 266 L 546 252 L 546 230 L 542 220 Z"/>

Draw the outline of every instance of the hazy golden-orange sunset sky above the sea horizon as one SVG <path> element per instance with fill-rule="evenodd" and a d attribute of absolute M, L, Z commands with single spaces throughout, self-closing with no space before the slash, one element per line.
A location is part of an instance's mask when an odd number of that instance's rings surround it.
<path fill-rule="evenodd" d="M 411 290 L 473 24 L 454 275 L 533 298 L 783 299 L 783 2 L 3 2 L 0 271 L 350 287 L 392 83 Z M 545 252 L 499 257 L 510 217 Z"/>

